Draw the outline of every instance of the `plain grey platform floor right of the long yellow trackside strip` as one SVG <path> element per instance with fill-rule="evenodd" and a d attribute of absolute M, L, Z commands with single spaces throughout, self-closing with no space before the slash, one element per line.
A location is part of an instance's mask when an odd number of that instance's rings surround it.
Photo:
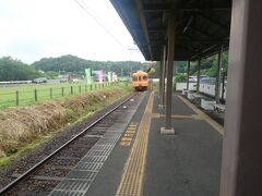
<path fill-rule="evenodd" d="M 176 135 L 160 134 L 164 117 L 152 120 L 142 195 L 218 196 L 223 136 L 207 123 L 211 120 L 199 117 L 178 96 L 172 98 Z M 163 112 L 158 101 L 155 96 L 156 113 Z"/>

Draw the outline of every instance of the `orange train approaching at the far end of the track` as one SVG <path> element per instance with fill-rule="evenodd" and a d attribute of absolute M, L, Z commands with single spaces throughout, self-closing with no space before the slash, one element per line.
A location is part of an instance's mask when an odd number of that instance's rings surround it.
<path fill-rule="evenodd" d="M 132 85 L 138 91 L 146 90 L 148 86 L 148 74 L 142 71 L 133 73 Z"/>

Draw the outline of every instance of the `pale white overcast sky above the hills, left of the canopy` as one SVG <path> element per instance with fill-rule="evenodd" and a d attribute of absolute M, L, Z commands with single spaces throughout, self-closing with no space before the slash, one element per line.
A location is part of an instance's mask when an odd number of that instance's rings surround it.
<path fill-rule="evenodd" d="M 138 47 L 109 0 L 0 0 L 0 57 L 25 63 L 63 54 L 144 61 L 138 50 L 129 50 Z"/>

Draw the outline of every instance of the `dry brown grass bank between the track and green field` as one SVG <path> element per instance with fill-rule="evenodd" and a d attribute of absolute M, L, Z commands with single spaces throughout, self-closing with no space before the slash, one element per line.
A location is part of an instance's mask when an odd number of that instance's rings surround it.
<path fill-rule="evenodd" d="M 0 167 L 53 137 L 64 125 L 91 117 L 130 90 L 130 86 L 123 85 L 0 112 Z"/>

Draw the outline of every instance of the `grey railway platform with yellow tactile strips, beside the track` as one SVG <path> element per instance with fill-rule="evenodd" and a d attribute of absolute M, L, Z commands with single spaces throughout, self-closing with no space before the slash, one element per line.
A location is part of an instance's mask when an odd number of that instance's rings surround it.
<path fill-rule="evenodd" d="M 159 97 L 144 93 L 50 195 L 216 196 L 219 193 L 223 127 L 172 95 L 175 135 L 165 124 Z M 110 139 L 111 138 L 111 139 Z"/>

